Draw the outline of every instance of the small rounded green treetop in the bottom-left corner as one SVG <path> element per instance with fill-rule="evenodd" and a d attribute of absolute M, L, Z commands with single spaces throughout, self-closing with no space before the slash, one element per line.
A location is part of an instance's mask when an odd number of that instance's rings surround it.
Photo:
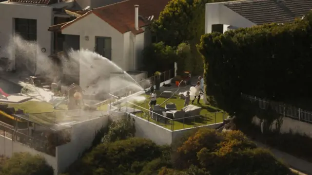
<path fill-rule="evenodd" d="M 4 161 L 1 168 L 2 175 L 53 175 L 53 168 L 43 157 L 29 153 L 15 153 Z"/>

